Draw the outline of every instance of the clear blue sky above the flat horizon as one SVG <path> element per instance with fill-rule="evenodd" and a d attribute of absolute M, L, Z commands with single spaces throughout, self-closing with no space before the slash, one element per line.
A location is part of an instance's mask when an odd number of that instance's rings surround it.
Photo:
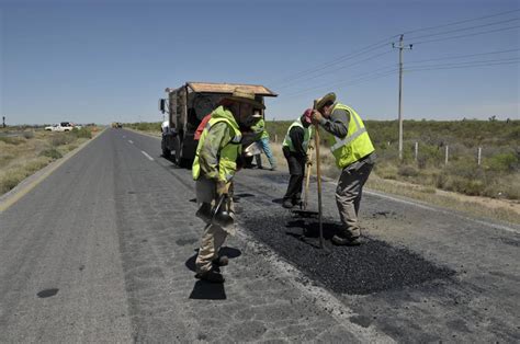
<path fill-rule="evenodd" d="M 519 10 L 516 0 L 0 0 L 0 112 L 8 124 L 155 122 L 165 88 L 211 81 L 279 93 L 268 119 L 292 119 L 329 91 L 366 119 L 395 119 L 392 42 L 405 33 L 405 118 L 518 119 Z"/>

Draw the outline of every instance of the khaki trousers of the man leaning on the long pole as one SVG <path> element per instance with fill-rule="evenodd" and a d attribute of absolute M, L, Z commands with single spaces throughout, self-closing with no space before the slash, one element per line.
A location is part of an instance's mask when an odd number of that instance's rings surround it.
<path fill-rule="evenodd" d="M 361 163 L 355 169 L 346 168 L 341 172 L 336 188 L 336 204 L 343 223 L 344 234 L 352 239 L 361 234 L 358 213 L 361 204 L 363 185 L 369 179 L 374 163 Z"/>

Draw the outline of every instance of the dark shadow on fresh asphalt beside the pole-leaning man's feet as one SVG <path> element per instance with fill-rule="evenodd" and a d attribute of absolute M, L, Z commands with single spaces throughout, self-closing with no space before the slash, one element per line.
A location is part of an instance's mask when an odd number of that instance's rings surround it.
<path fill-rule="evenodd" d="M 309 219 L 294 219 L 285 225 L 289 230 L 285 234 L 293 237 L 308 245 L 319 248 L 319 222 Z M 337 222 L 323 222 L 324 240 L 330 241 L 340 232 L 341 225 Z"/>

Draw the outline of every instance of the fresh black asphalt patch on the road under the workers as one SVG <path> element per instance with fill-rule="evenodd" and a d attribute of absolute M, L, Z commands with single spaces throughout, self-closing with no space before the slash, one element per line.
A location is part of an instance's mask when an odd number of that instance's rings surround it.
<path fill-rule="evenodd" d="M 323 222 L 323 250 L 319 249 L 317 220 L 294 218 L 283 210 L 260 216 L 245 214 L 241 223 L 310 279 L 336 293 L 366 295 L 416 286 L 454 274 L 454 271 L 437 266 L 417 253 L 368 237 L 362 237 L 363 244 L 359 246 L 334 245 L 330 239 L 340 225 L 330 219 Z"/>

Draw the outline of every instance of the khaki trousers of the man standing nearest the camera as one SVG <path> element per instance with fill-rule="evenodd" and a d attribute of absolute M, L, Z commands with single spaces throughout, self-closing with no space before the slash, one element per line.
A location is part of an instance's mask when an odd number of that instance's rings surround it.
<path fill-rule="evenodd" d="M 215 205 L 216 183 L 213 180 L 200 177 L 196 181 L 196 200 L 197 203 L 210 203 Z M 204 273 L 212 270 L 212 262 L 218 256 L 218 250 L 224 244 L 227 232 L 219 226 L 207 223 L 202 234 L 201 246 L 196 256 L 195 265 L 197 273 Z"/>

